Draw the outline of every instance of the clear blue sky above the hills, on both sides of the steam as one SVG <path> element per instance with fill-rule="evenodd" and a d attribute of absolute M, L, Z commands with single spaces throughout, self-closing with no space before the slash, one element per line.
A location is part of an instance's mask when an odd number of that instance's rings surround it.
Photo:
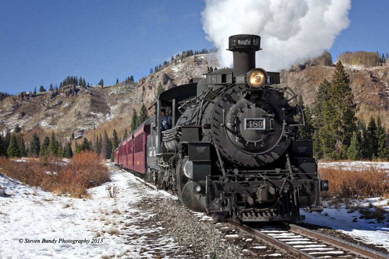
<path fill-rule="evenodd" d="M 48 88 L 68 75 L 114 84 L 184 50 L 212 48 L 203 0 L 0 0 L 0 91 Z M 389 52 L 389 1 L 353 0 L 330 52 Z"/>

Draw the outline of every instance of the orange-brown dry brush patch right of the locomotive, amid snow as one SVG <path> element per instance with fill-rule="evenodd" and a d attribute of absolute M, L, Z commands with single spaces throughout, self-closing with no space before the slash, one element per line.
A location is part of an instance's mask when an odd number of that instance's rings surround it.
<path fill-rule="evenodd" d="M 375 166 L 356 167 L 354 170 L 341 166 L 320 168 L 321 179 L 328 180 L 329 191 L 325 196 L 339 198 L 365 198 L 371 196 L 388 196 L 388 172 Z"/>

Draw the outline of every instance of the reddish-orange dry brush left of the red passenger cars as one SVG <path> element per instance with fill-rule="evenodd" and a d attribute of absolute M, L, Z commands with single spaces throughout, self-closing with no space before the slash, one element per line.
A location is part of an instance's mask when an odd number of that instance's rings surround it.
<path fill-rule="evenodd" d="M 48 166 L 42 166 L 41 158 L 15 162 L 0 157 L 0 172 L 42 190 L 83 198 L 88 196 L 88 188 L 109 181 L 108 170 L 101 161 L 102 158 L 93 152 L 77 154 L 68 163 L 51 157 Z"/>

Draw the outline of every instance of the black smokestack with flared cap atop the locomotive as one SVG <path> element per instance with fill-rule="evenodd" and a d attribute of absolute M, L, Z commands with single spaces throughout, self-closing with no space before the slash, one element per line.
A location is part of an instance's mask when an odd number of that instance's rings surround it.
<path fill-rule="evenodd" d="M 258 35 L 233 35 L 228 38 L 228 49 L 233 52 L 234 76 L 246 74 L 255 69 L 255 52 L 261 50 L 261 37 Z"/>

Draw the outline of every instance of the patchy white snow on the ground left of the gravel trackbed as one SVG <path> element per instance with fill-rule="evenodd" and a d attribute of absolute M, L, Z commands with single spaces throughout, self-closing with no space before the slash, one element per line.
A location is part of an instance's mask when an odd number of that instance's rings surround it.
<path fill-rule="evenodd" d="M 9 195 L 0 195 L 0 258 L 155 258 L 177 246 L 169 237 L 143 243 L 158 228 L 140 227 L 153 211 L 133 206 L 143 195 L 170 194 L 140 187 L 134 175 L 108 165 L 112 181 L 90 189 L 85 200 L 56 196 L 0 174 L 0 194 Z M 116 198 L 108 197 L 107 185 L 119 188 Z"/>

